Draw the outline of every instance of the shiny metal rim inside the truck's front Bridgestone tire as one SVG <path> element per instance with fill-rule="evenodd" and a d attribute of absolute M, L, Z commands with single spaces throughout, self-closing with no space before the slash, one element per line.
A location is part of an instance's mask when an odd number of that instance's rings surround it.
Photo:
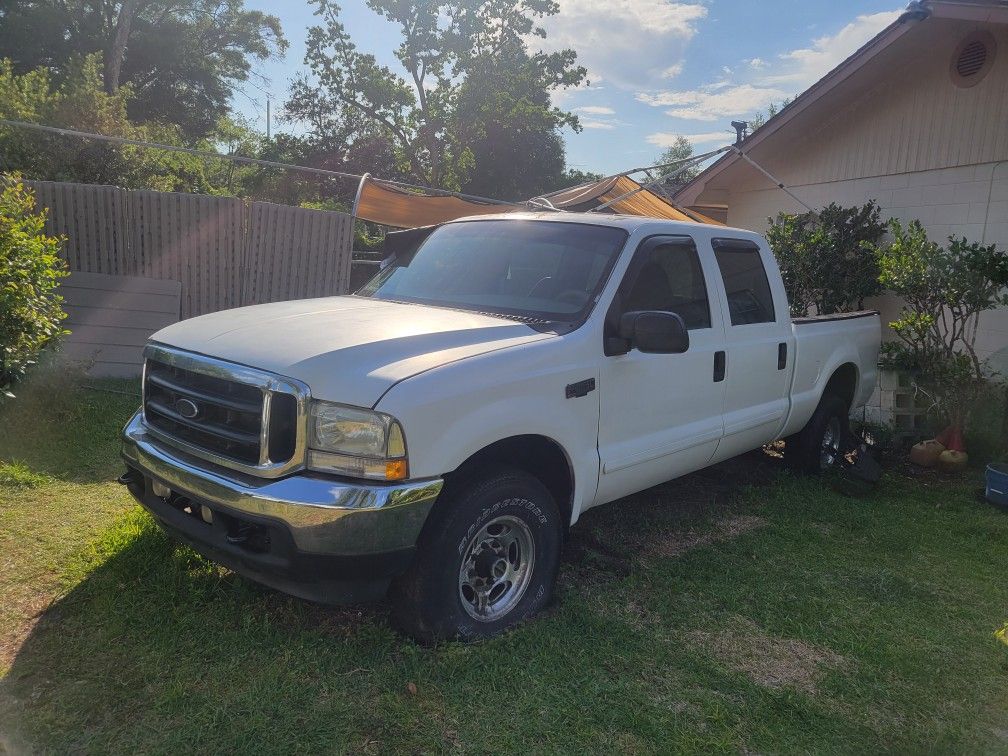
<path fill-rule="evenodd" d="M 532 580 L 532 531 L 523 520 L 490 520 L 466 546 L 459 570 L 459 597 L 475 620 L 493 622 L 517 606 Z"/>

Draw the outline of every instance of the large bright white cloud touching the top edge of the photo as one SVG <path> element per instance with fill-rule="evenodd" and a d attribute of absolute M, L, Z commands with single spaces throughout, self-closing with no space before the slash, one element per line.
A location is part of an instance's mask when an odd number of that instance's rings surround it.
<path fill-rule="evenodd" d="M 529 40 L 547 51 L 572 47 L 595 83 L 624 89 L 652 85 L 681 65 L 685 45 L 707 16 L 700 2 L 677 0 L 558 0 L 543 21 L 546 38 Z"/>

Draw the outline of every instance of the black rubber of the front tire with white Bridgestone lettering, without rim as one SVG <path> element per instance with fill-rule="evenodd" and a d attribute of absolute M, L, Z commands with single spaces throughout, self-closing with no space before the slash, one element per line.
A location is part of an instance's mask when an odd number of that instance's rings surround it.
<path fill-rule="evenodd" d="M 460 572 L 473 539 L 502 517 L 520 520 L 531 534 L 531 577 L 505 615 L 477 619 L 463 604 Z M 523 471 L 498 468 L 479 479 L 450 481 L 423 526 L 413 563 L 389 589 L 393 624 L 423 643 L 473 641 L 534 616 L 552 596 L 561 533 L 549 491 Z"/>

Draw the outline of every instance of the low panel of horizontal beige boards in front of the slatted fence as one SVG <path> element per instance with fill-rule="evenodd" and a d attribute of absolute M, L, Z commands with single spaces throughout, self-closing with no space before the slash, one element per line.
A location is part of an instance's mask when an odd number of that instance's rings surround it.
<path fill-rule="evenodd" d="M 135 377 L 150 335 L 178 321 L 181 283 L 76 272 L 59 293 L 71 332 L 62 356 L 84 363 L 91 375 Z"/>

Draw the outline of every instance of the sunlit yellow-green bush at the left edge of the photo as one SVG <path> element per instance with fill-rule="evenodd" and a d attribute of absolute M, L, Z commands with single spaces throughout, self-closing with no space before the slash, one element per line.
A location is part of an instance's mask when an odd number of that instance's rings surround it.
<path fill-rule="evenodd" d="M 24 375 L 38 353 L 67 333 L 56 293 L 65 276 L 62 240 L 44 233 L 45 213 L 16 175 L 0 175 L 0 391 Z"/>

